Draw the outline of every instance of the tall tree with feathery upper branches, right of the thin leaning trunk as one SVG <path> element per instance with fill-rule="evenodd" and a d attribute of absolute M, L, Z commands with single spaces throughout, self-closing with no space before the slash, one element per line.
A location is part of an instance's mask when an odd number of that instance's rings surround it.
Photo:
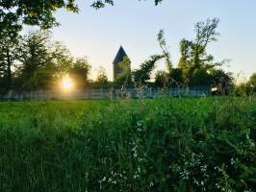
<path fill-rule="evenodd" d="M 180 42 L 181 58 L 178 67 L 183 71 L 183 78 L 187 85 L 205 84 L 208 73 L 216 66 L 222 65 L 226 60 L 215 62 L 212 55 L 206 52 L 207 45 L 216 41 L 219 19 L 207 19 L 205 22 L 195 24 L 195 39 L 193 41 L 182 39 Z"/>

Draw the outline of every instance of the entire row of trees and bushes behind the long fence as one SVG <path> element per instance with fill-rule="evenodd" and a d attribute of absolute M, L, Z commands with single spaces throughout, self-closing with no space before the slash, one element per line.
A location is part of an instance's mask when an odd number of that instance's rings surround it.
<path fill-rule="evenodd" d="M 218 39 L 218 18 L 207 19 L 195 24 L 195 38 L 180 41 L 180 60 L 174 67 L 167 46 L 164 31 L 158 34 L 161 54 L 150 56 L 141 63 L 139 69 L 131 71 L 130 60 L 119 62 L 123 73 L 115 82 L 110 82 L 103 67 L 98 70 L 95 81 L 90 80 L 90 63 L 86 57 L 74 58 L 69 50 L 58 41 L 51 40 L 48 31 L 29 33 L 13 38 L 0 36 L 0 89 L 1 90 L 38 90 L 60 87 L 62 77 L 68 75 L 75 88 L 88 87 L 212 87 L 217 94 L 237 95 L 256 92 L 256 75 L 248 83 L 235 84 L 230 72 L 221 66 L 228 60 L 216 61 L 207 53 L 207 46 Z M 165 61 L 167 70 L 153 72 L 158 62 Z"/>

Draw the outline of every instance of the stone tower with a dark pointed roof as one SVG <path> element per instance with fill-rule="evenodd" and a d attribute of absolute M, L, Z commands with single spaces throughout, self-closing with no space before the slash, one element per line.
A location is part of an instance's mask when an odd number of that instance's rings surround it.
<path fill-rule="evenodd" d="M 120 48 L 115 56 L 115 60 L 113 61 L 114 81 L 119 74 L 122 74 L 124 72 L 123 69 L 119 66 L 119 63 L 122 62 L 124 58 L 128 58 L 128 56 L 126 55 L 122 46 L 120 46 Z M 131 71 L 131 63 L 129 63 L 129 68 Z"/>

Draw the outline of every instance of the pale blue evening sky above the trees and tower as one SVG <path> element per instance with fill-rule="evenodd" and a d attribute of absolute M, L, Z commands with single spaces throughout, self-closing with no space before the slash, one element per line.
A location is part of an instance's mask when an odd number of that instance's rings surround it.
<path fill-rule="evenodd" d="M 255 0 L 164 0 L 155 7 L 153 0 L 115 0 L 115 6 L 95 11 L 92 1 L 77 0 L 78 14 L 56 12 L 60 27 L 52 30 L 75 57 L 87 56 L 95 79 L 103 66 L 113 80 L 113 60 L 120 45 L 132 60 L 132 69 L 153 54 L 161 53 L 157 34 L 165 30 L 174 66 L 180 57 L 179 42 L 194 38 L 194 24 L 218 17 L 218 42 L 207 52 L 216 60 L 231 60 L 224 66 L 241 78 L 256 72 L 256 1 Z M 165 69 L 159 63 L 156 70 Z"/>

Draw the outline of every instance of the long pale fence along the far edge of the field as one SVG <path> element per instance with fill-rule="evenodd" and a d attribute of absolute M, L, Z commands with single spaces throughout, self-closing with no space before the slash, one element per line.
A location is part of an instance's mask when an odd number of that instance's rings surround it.
<path fill-rule="evenodd" d="M 207 87 L 187 88 L 129 88 L 129 89 L 87 89 L 73 91 L 38 90 L 38 91 L 9 91 L 0 93 L 0 100 L 102 100 L 123 98 L 154 98 L 166 96 L 208 96 L 211 94 Z"/>

